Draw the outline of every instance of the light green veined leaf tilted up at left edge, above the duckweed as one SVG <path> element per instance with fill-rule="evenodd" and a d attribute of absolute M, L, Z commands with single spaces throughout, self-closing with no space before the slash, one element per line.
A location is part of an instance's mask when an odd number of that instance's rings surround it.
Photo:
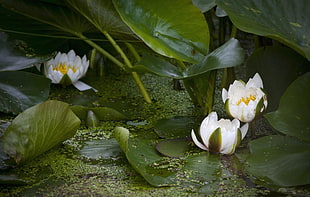
<path fill-rule="evenodd" d="M 72 137 L 80 119 L 68 104 L 46 101 L 19 114 L 2 136 L 3 151 L 17 164 Z"/>

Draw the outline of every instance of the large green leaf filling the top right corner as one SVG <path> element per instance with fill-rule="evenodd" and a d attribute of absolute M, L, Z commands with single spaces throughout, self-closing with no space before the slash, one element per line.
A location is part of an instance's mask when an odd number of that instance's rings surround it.
<path fill-rule="evenodd" d="M 276 39 L 310 60 L 310 1 L 216 0 L 239 29 Z"/>

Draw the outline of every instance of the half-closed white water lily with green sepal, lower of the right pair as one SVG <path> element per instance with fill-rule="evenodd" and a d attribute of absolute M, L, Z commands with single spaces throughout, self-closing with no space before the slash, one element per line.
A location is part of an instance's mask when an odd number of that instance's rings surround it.
<path fill-rule="evenodd" d="M 248 128 L 248 123 L 240 128 L 240 121 L 237 119 L 218 120 L 216 112 L 212 112 L 200 125 L 199 135 L 202 143 L 197 140 L 194 130 L 192 130 L 192 139 L 203 150 L 232 154 L 245 137 Z"/>

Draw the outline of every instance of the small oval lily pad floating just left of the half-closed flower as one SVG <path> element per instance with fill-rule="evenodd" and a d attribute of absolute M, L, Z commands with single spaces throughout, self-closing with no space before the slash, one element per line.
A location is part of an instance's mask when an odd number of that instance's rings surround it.
<path fill-rule="evenodd" d="M 159 142 L 156 150 L 167 157 L 181 157 L 192 148 L 190 138 L 168 139 Z"/>

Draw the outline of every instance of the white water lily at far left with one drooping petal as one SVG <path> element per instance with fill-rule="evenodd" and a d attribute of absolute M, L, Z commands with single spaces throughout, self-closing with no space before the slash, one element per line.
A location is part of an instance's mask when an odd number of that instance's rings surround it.
<path fill-rule="evenodd" d="M 88 66 L 89 60 L 86 59 L 85 55 L 81 59 L 75 54 L 74 50 L 70 50 L 68 54 L 58 52 L 55 58 L 44 63 L 44 75 L 51 79 L 52 83 L 73 84 L 80 91 L 88 90 L 92 87 L 78 81 L 85 76 Z"/>

